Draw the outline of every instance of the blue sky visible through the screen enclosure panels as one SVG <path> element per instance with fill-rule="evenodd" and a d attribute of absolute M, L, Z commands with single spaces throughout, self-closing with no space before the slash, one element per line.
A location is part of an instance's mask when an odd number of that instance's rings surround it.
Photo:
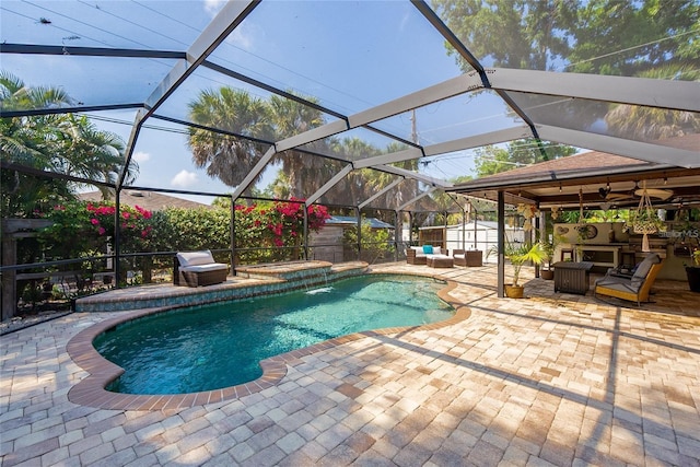
<path fill-rule="evenodd" d="M 222 1 L 14 1 L 0 4 L 5 43 L 186 50 L 223 5 Z M 371 108 L 462 74 L 442 36 L 409 2 L 266 1 L 220 46 L 210 60 L 283 90 L 314 96 L 345 115 Z M 2 55 L 1 68 L 30 86 L 62 86 L 85 105 L 143 102 L 175 65 L 166 59 Z M 187 105 L 202 90 L 223 85 L 267 98 L 266 91 L 201 67 L 158 109 L 187 119 Z M 91 113 L 101 129 L 129 140 L 135 110 Z M 328 116 L 328 121 L 335 119 Z M 432 144 L 515 124 L 489 92 L 458 96 L 416 113 L 418 140 Z M 411 139 L 411 116 L 376 127 Z M 153 129 L 153 127 L 160 130 Z M 140 175 L 133 185 L 231 192 L 232 187 L 195 167 L 184 127 L 149 119 L 135 147 Z M 354 130 L 382 148 L 389 141 Z M 474 154 L 463 151 L 421 164 L 438 178 L 470 175 Z M 424 161 L 428 162 L 428 161 Z M 268 173 L 262 188 L 273 175 Z M 211 198 L 182 196 L 209 203 Z"/>

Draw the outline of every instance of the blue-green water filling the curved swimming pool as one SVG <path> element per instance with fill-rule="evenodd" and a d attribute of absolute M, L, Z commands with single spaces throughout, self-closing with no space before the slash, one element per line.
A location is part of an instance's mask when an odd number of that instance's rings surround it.
<path fill-rule="evenodd" d="M 107 389 L 183 394 L 261 376 L 259 361 L 362 330 L 441 322 L 444 283 L 365 276 L 283 295 L 190 307 L 126 323 L 94 341 L 125 369 Z"/>

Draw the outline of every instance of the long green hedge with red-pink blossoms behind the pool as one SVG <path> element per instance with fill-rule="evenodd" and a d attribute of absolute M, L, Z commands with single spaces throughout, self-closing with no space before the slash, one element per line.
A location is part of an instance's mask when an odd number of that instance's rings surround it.
<path fill-rule="evenodd" d="M 304 232 L 303 200 L 236 205 L 235 210 L 236 247 L 248 248 L 238 259 L 246 264 L 299 259 Z M 37 212 L 37 217 L 54 222 L 42 233 L 42 252 L 52 259 L 105 254 L 107 245 L 114 247 L 114 214 L 110 202 L 70 202 L 46 213 Z M 307 217 L 308 229 L 315 232 L 330 218 L 322 206 L 308 207 Z M 151 213 L 121 205 L 118 223 L 125 254 L 231 247 L 230 209 L 170 208 Z M 218 260 L 228 260 L 226 254 L 219 255 Z M 151 267 L 167 269 L 172 260 L 166 256 L 144 256 L 128 266 L 143 270 L 144 281 Z"/>

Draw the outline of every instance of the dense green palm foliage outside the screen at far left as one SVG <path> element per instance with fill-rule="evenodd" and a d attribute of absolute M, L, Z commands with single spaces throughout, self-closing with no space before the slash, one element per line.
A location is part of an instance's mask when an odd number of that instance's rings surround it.
<path fill-rule="evenodd" d="M 31 87 L 18 77 L 0 73 L 0 105 L 5 110 L 26 110 L 70 105 L 73 100 L 55 87 Z M 122 171 L 125 142 L 97 129 L 85 116 L 74 114 L 0 119 L 0 155 L 3 162 L 89 180 L 114 183 Z M 127 179 L 138 173 L 131 163 Z M 39 178 L 16 171 L 2 171 L 4 215 L 26 215 L 74 198 L 79 187 L 62 178 Z M 104 189 L 104 188 L 101 188 Z"/>

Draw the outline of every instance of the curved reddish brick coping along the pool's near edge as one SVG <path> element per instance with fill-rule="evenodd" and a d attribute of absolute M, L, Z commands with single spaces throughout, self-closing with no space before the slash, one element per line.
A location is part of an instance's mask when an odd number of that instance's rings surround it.
<path fill-rule="evenodd" d="M 369 271 L 369 273 L 387 276 L 395 275 L 373 271 Z M 66 346 L 66 350 L 71 360 L 82 370 L 88 372 L 88 376 L 85 378 L 81 380 L 70 388 L 70 390 L 68 392 L 68 399 L 71 402 L 80 406 L 88 406 L 98 409 L 145 411 L 173 409 L 178 410 L 195 406 L 202 406 L 206 404 L 233 400 L 240 397 L 260 393 L 277 385 L 287 375 L 288 365 L 293 366 L 294 363 L 299 362 L 299 360 L 303 357 L 328 350 L 330 348 L 338 347 L 343 343 L 365 337 L 438 329 L 457 324 L 470 316 L 470 308 L 456 301 L 454 296 L 450 295 L 450 292 L 457 288 L 457 282 L 444 278 L 439 273 L 427 275 L 418 272 L 401 272 L 399 276 L 420 276 L 444 281 L 445 287 L 438 291 L 438 296 L 453 306 L 455 308 L 455 314 L 450 319 L 431 323 L 428 325 L 392 327 L 353 332 L 351 335 L 336 337 L 315 343 L 313 346 L 270 357 L 259 362 L 260 367 L 262 369 L 262 375 L 260 377 L 235 386 L 187 394 L 136 395 L 113 393 L 106 389 L 106 386 L 110 382 L 113 382 L 124 373 L 124 369 L 102 357 L 100 352 L 97 352 L 97 350 L 93 347 L 92 342 L 102 332 L 122 323 L 148 315 L 165 313 L 177 307 L 153 307 L 135 310 L 131 312 L 121 312 L 122 314 L 120 316 L 105 319 L 102 323 L 95 324 L 86 329 L 81 330 L 75 336 L 73 336 Z"/>

